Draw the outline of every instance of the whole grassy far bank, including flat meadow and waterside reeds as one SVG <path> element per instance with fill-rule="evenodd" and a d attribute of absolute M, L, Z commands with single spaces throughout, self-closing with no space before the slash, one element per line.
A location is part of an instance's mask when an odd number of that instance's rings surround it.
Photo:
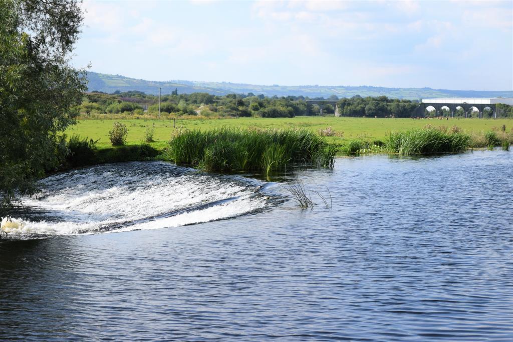
<path fill-rule="evenodd" d="M 111 146 L 111 120 L 87 120 L 68 130 L 92 138 L 75 138 L 68 166 L 165 159 L 208 171 L 269 173 L 294 163 L 329 166 L 337 151 L 431 154 L 497 146 L 508 150 L 513 144 L 513 120 L 508 119 L 249 118 L 177 120 L 176 127 L 166 120 L 122 122 L 128 127 L 126 146 Z M 451 123 L 458 126 L 447 125 Z M 145 133 L 153 124 L 155 141 L 146 143 Z M 502 125 L 506 132 L 500 130 Z M 346 136 L 341 127 L 352 133 Z M 372 135 L 365 133 L 371 128 Z M 92 141 L 94 146 L 88 146 Z"/>

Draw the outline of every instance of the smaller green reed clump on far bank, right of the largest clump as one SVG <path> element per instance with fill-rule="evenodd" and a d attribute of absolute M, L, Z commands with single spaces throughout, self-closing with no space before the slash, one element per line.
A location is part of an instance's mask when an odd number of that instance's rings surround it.
<path fill-rule="evenodd" d="M 470 136 L 435 128 L 391 133 L 387 147 L 399 154 L 436 154 L 463 152 L 470 145 Z"/>

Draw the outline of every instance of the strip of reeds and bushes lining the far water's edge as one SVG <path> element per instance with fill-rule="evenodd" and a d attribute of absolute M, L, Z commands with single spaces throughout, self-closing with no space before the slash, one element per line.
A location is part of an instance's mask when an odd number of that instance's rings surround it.
<path fill-rule="evenodd" d="M 148 130 L 148 129 L 147 129 Z M 209 130 L 172 130 L 168 142 L 97 147 L 97 140 L 73 135 L 64 168 L 132 160 L 170 160 L 177 165 L 215 172 L 261 172 L 285 170 L 294 164 L 332 167 L 338 155 L 438 154 L 467 149 L 509 150 L 513 131 L 465 132 L 458 126 L 431 126 L 390 132 L 382 139 L 329 141 L 324 132 L 306 128 L 262 129 L 218 127 Z"/>

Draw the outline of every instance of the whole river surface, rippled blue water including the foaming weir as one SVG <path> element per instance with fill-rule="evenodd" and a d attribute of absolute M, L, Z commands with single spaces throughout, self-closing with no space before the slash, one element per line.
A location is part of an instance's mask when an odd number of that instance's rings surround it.
<path fill-rule="evenodd" d="M 48 179 L 0 242 L 0 340 L 513 340 L 513 152 L 338 159 L 299 172 L 331 191 L 313 211 L 106 167 Z"/>

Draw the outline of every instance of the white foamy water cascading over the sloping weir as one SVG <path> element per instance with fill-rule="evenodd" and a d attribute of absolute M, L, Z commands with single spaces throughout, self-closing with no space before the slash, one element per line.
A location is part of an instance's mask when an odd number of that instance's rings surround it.
<path fill-rule="evenodd" d="M 27 217 L 3 222 L 12 237 L 158 229 L 240 216 L 268 205 L 258 185 L 164 162 L 108 164 L 43 180 Z"/>

